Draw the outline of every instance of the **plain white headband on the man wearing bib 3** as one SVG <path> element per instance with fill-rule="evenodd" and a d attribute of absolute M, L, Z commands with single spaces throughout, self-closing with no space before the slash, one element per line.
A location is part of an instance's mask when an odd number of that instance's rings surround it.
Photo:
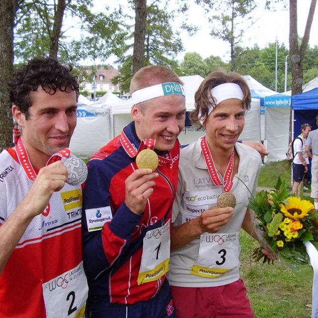
<path fill-rule="evenodd" d="M 239 100 L 243 100 L 244 94 L 240 86 L 236 83 L 224 83 L 218 86 L 215 86 L 211 89 L 211 94 L 214 97 L 215 103 L 211 103 L 208 105 L 208 114 L 205 118 L 200 119 L 200 123 L 203 126 L 205 120 L 213 111 L 214 107 L 220 104 L 222 101 L 235 98 Z M 199 118 L 201 116 L 201 111 L 199 112 Z"/>

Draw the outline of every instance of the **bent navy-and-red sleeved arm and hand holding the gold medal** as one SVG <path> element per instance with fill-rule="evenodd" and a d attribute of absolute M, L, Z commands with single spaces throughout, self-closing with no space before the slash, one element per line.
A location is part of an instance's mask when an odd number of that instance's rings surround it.
<path fill-rule="evenodd" d="M 139 169 L 125 183 L 125 180 L 117 180 L 114 189 L 114 186 L 110 186 L 109 176 L 113 172 L 107 169 L 109 167 L 103 161 L 90 161 L 83 188 L 83 259 L 86 275 L 91 278 L 108 269 L 119 257 L 121 260 L 130 257 L 131 237 L 143 218 L 147 199 L 153 193 L 152 179 L 156 177 L 151 170 L 147 172 Z M 114 204 L 111 202 L 123 197 L 122 193 L 119 195 L 122 191 L 125 192 L 126 201 L 119 203 L 114 213 L 111 208 Z M 101 230 L 91 225 L 98 211 L 103 214 L 101 218 L 111 218 L 103 224 Z"/>

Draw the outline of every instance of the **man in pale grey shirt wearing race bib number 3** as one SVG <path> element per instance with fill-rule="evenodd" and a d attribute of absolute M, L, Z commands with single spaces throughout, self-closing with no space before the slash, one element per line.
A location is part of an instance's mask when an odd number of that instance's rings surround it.
<path fill-rule="evenodd" d="M 237 143 L 250 102 L 236 73 L 212 72 L 195 93 L 190 117 L 206 133 L 180 153 L 168 273 L 177 317 L 254 317 L 239 279 L 240 229 L 261 240 L 246 208 L 261 157 Z"/>

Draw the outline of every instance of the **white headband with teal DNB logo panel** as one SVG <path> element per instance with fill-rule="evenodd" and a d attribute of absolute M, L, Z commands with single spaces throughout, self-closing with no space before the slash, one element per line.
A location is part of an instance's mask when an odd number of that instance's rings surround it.
<path fill-rule="evenodd" d="M 185 96 L 183 86 L 176 82 L 167 82 L 141 88 L 131 94 L 134 104 L 165 95 Z"/>

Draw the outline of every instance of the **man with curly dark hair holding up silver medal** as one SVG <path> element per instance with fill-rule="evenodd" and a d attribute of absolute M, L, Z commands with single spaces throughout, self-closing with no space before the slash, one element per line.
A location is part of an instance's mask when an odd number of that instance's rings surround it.
<path fill-rule="evenodd" d="M 60 160 L 77 122 L 79 84 L 52 57 L 23 65 L 10 85 L 22 128 L 0 154 L 0 317 L 80 317 L 87 297 L 82 269 L 80 186 L 67 184 Z"/>

